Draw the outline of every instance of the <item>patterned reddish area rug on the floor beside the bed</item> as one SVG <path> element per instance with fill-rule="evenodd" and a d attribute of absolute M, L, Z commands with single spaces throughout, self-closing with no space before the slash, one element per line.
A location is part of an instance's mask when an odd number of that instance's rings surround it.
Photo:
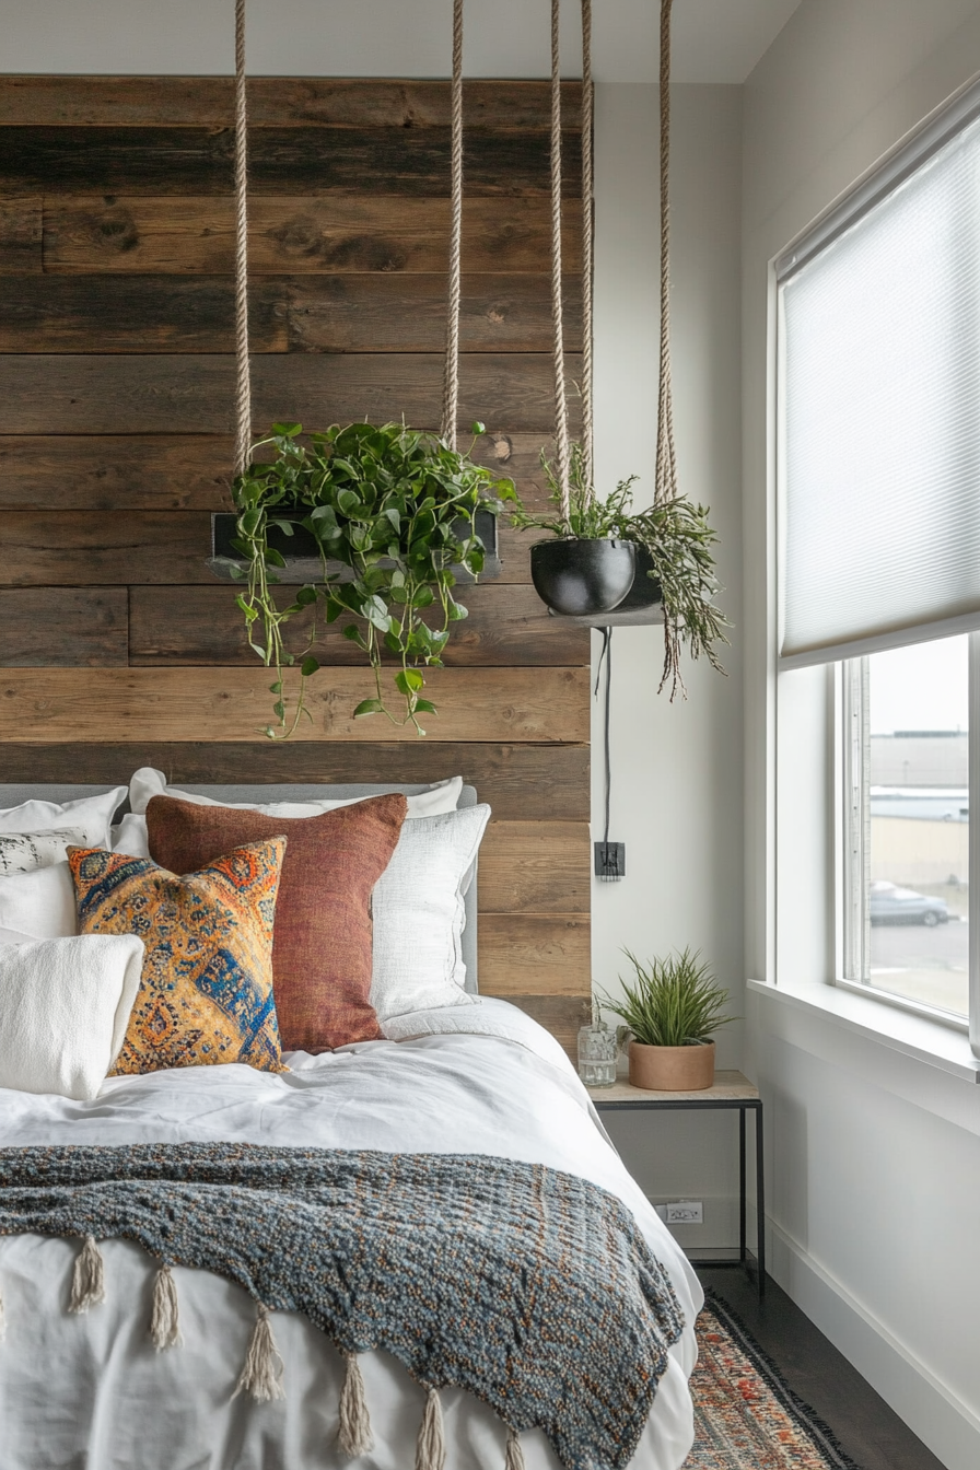
<path fill-rule="evenodd" d="M 860 1470 L 724 1302 L 707 1294 L 685 1470 Z"/>

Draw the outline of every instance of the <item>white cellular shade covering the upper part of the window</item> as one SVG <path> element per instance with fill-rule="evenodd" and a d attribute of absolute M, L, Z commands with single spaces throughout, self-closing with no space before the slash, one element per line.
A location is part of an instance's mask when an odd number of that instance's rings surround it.
<path fill-rule="evenodd" d="M 783 662 L 980 628 L 980 122 L 782 273 Z"/>

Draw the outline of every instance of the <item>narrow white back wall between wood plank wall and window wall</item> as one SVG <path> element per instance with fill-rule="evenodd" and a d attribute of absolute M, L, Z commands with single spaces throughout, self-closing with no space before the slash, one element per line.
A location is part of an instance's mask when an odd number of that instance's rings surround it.
<path fill-rule="evenodd" d="M 732 617 L 729 678 L 688 666 L 688 701 L 657 694 L 663 629 L 613 639 L 613 820 L 627 878 L 594 881 L 594 975 L 616 989 L 621 950 L 641 958 L 693 945 L 742 997 L 741 576 L 741 88 L 673 88 L 673 356 L 680 488 L 711 507 L 721 603 Z M 597 479 L 641 475 L 654 490 L 660 291 L 658 90 L 597 93 Z M 599 635 L 594 634 L 594 648 Z M 592 826 L 602 835 L 601 701 L 594 707 Z M 741 1025 L 718 1036 L 741 1064 Z M 735 1120 L 614 1114 L 610 1127 L 654 1198 L 702 1198 L 686 1244 L 735 1238 Z"/>

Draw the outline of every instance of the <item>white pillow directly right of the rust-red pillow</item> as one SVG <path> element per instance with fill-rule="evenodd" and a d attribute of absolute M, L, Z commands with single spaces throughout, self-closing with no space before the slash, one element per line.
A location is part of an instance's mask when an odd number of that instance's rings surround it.
<path fill-rule="evenodd" d="M 406 822 L 375 883 L 370 1003 L 383 1023 L 406 1011 L 466 1005 L 463 898 L 489 820 L 488 806 Z"/>

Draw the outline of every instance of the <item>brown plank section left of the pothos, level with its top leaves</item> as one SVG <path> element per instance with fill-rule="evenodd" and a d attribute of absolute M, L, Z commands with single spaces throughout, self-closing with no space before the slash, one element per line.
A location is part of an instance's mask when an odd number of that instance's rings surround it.
<path fill-rule="evenodd" d="M 0 435 L 3 510 L 231 510 L 231 435 Z"/>

